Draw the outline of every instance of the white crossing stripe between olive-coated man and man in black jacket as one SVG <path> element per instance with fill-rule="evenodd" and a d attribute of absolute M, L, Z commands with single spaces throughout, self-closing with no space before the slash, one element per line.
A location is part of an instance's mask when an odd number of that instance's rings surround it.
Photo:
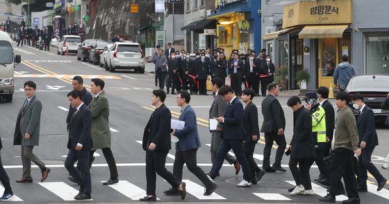
<path fill-rule="evenodd" d="M 103 182 L 105 182 L 105 180 L 101 181 L 101 183 Z M 144 191 L 144 189 L 141 189 L 140 187 L 129 183 L 127 180 L 119 180 L 119 183 L 115 183 L 113 185 L 108 186 L 133 201 L 139 201 L 139 198 L 143 198 L 144 196 L 146 196 L 146 192 Z M 157 198 L 157 200 L 160 199 Z"/>

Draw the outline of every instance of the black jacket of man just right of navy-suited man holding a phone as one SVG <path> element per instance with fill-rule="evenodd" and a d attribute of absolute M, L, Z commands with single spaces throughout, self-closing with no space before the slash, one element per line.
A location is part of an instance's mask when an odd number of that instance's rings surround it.
<path fill-rule="evenodd" d="M 254 135 L 259 138 L 258 109 L 253 102 L 250 102 L 243 111 L 242 123 L 246 134 L 245 141 L 251 141 Z"/>

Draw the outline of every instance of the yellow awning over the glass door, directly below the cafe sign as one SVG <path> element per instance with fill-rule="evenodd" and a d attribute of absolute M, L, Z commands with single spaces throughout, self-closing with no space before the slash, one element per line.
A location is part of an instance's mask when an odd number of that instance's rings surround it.
<path fill-rule="evenodd" d="M 342 38 L 349 25 L 305 26 L 299 33 L 299 39 Z"/>

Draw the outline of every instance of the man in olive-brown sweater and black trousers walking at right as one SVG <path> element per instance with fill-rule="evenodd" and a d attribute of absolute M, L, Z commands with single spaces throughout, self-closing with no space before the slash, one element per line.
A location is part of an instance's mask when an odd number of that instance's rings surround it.
<path fill-rule="evenodd" d="M 354 113 L 349 109 L 350 96 L 345 91 L 340 91 L 336 95 L 336 106 L 338 106 L 338 115 L 336 115 L 336 133 L 333 146 L 334 156 L 331 163 L 331 185 L 329 194 L 320 198 L 319 201 L 325 203 L 335 203 L 335 196 L 342 194 L 340 190 L 343 177 L 349 199 L 342 203 L 360 203 L 358 187 L 354 172 L 353 156 L 361 155 L 361 149 L 358 148 L 358 129 Z M 342 189 L 342 188 L 341 188 Z"/>

